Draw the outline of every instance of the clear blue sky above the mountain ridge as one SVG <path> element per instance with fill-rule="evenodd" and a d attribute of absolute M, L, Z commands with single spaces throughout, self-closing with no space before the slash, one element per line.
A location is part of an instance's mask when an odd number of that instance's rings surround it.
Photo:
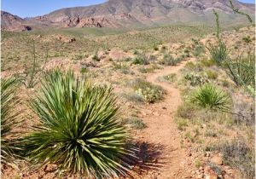
<path fill-rule="evenodd" d="M 88 6 L 104 3 L 107 0 L 1 0 L 2 10 L 20 17 L 34 17 L 48 14 L 61 8 Z M 244 3 L 255 3 L 255 0 L 241 0 Z"/>

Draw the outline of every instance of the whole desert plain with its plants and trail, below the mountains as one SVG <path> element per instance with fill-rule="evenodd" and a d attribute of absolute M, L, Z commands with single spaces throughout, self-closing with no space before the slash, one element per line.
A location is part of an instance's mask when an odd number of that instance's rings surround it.
<path fill-rule="evenodd" d="M 249 25 L 4 31 L 3 178 L 253 179 L 255 26 L 230 7 Z"/>

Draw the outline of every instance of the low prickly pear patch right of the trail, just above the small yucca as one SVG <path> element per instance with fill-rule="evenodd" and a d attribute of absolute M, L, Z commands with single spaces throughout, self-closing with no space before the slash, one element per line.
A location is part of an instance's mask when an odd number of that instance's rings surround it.
<path fill-rule="evenodd" d="M 202 85 L 209 82 L 206 75 L 195 72 L 186 73 L 184 78 L 189 81 L 191 86 Z"/>

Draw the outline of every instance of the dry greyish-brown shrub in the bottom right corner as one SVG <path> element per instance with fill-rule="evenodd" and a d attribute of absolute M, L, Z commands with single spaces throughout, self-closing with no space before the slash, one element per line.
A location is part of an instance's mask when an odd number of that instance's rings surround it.
<path fill-rule="evenodd" d="M 215 150 L 223 154 L 224 164 L 240 170 L 242 178 L 254 178 L 255 154 L 254 149 L 247 146 L 242 139 L 226 141 L 215 147 Z"/>

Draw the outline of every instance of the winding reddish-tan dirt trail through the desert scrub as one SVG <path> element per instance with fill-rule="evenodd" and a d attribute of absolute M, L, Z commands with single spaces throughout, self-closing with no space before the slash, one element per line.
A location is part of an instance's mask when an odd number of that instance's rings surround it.
<path fill-rule="evenodd" d="M 160 150 L 159 156 L 155 159 L 159 166 L 157 172 L 143 178 L 177 179 L 186 175 L 186 152 L 180 147 L 181 138 L 177 124 L 174 123 L 174 114 L 182 102 L 180 91 L 172 84 L 157 80 L 170 73 L 177 73 L 186 62 L 183 61 L 177 66 L 167 66 L 147 77 L 149 82 L 166 90 L 166 95 L 163 101 L 146 105 L 142 110 L 143 121 L 148 126 L 141 132 L 143 141 L 154 144 L 154 148 Z"/>

